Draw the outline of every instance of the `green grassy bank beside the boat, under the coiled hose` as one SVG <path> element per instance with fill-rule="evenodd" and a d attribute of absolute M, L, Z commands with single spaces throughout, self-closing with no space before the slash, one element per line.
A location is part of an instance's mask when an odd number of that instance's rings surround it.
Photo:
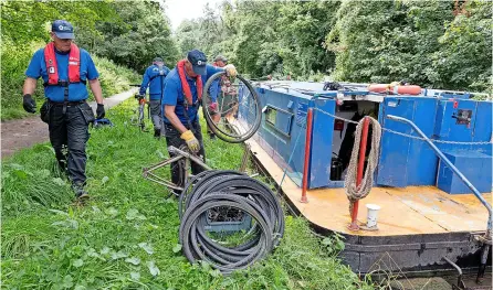
<path fill-rule="evenodd" d="M 280 247 L 248 270 L 222 277 L 207 264 L 190 265 L 177 250 L 177 201 L 141 178 L 141 168 L 167 152 L 164 140 L 129 125 L 134 101 L 108 111 L 115 127 L 91 130 L 85 206 L 72 203 L 50 146 L 4 160 L 4 289 L 371 289 L 334 257 L 337 239 L 322 243 L 292 216 Z M 210 165 L 239 168 L 241 146 L 204 142 Z"/>

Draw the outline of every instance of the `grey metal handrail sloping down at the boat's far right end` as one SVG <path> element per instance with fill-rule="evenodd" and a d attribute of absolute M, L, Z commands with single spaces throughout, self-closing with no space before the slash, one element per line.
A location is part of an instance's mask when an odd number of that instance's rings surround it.
<path fill-rule="evenodd" d="M 476 187 L 474 187 L 474 185 L 472 185 L 472 183 L 464 176 L 464 174 L 462 174 L 462 172 L 460 172 L 459 169 L 455 168 L 452 164 L 452 162 L 450 162 L 450 160 L 443 154 L 443 152 L 440 151 L 440 149 L 438 149 L 438 147 L 436 144 L 433 144 L 433 142 L 418 128 L 418 126 L 416 126 L 416 123 L 413 123 L 411 120 L 408 120 L 408 119 L 402 118 L 402 117 L 394 116 L 394 115 L 387 115 L 387 118 L 391 119 L 391 120 L 409 123 L 412 127 L 412 129 L 415 129 L 416 132 L 419 136 L 421 136 L 424 139 L 424 141 L 427 141 L 427 143 L 431 147 L 431 149 L 433 149 L 434 153 L 437 153 L 437 155 L 443 162 L 445 162 L 445 164 L 452 170 L 452 172 L 455 173 L 462 180 L 462 182 L 472 191 L 472 193 L 474 193 L 474 195 L 478 197 L 478 200 L 480 200 L 480 202 L 487 210 L 489 217 L 487 217 L 487 230 L 486 230 L 486 234 L 491 235 L 491 233 L 492 233 L 491 232 L 491 228 L 492 228 L 492 210 L 491 210 L 491 205 L 483 198 L 483 196 L 481 196 L 481 193 L 476 190 Z M 487 236 L 487 238 L 490 239 L 490 236 Z"/>

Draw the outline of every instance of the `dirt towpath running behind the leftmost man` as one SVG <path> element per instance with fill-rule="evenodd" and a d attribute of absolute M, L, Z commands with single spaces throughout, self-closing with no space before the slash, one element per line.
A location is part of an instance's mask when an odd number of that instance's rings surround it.
<path fill-rule="evenodd" d="M 136 92 L 137 88 L 133 88 L 109 98 L 105 98 L 105 109 L 120 104 L 134 96 Z M 90 105 L 93 110 L 96 111 L 96 103 L 92 101 Z M 40 116 L 1 122 L 2 158 L 13 154 L 19 149 L 32 147 L 35 143 L 45 141 L 49 141 L 48 125 L 40 119 Z"/>

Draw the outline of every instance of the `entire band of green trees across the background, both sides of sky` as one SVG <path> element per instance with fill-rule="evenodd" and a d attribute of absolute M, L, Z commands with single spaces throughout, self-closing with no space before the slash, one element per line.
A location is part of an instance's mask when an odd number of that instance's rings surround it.
<path fill-rule="evenodd" d="M 1 8 L 2 54 L 4 45 L 43 45 L 50 22 L 66 19 L 80 46 L 140 73 L 155 56 L 174 66 L 200 49 L 210 60 L 225 55 L 253 78 L 406 79 L 492 92 L 487 0 L 224 0 L 206 6 L 203 17 L 183 21 L 175 33 L 165 8 L 151 0 L 3 1 Z"/>

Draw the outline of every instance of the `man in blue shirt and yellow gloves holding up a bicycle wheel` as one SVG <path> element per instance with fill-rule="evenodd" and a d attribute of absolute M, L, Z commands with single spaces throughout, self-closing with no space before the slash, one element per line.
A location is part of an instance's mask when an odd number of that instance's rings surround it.
<path fill-rule="evenodd" d="M 223 68 L 207 65 L 206 55 L 201 51 L 193 50 L 168 74 L 161 101 L 168 147 L 187 146 L 191 152 L 206 161 L 198 108 L 208 76 L 224 69 L 231 77 L 237 75 L 233 65 Z M 170 152 L 170 155 L 174 154 Z M 192 163 L 191 170 L 193 174 L 198 174 L 203 169 Z M 180 183 L 180 173 L 176 164 L 171 164 L 171 181 L 175 184 Z"/>

